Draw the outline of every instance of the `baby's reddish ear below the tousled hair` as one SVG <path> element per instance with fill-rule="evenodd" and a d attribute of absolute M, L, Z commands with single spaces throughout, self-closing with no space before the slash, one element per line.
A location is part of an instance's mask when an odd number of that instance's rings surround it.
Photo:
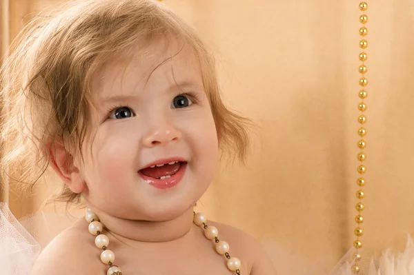
<path fill-rule="evenodd" d="M 66 150 L 63 142 L 53 141 L 48 143 L 46 154 L 49 155 L 53 170 L 72 192 L 79 194 L 86 189 L 86 183 L 81 178 L 73 156 Z"/>

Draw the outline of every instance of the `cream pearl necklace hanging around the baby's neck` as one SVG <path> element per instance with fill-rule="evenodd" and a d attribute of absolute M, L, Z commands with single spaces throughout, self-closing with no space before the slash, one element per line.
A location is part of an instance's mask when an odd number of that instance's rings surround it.
<path fill-rule="evenodd" d="M 230 254 L 228 254 L 228 251 L 230 250 L 228 243 L 225 241 L 220 241 L 217 238 L 217 236 L 219 236 L 219 230 L 217 230 L 217 228 L 214 226 L 206 225 L 207 218 L 204 214 L 195 212 L 193 213 L 193 223 L 204 229 L 204 236 L 206 236 L 208 240 L 214 241 L 216 243 L 216 252 L 227 258 L 227 268 L 230 269 L 230 271 L 235 272 L 237 275 L 240 275 L 239 268 L 242 266 L 242 263 L 238 258 L 230 257 Z M 119 269 L 117 265 L 113 265 L 115 261 L 115 254 L 114 252 L 107 249 L 109 245 L 109 238 L 105 234 L 101 234 L 103 232 L 103 224 L 99 222 L 99 217 L 97 214 L 92 212 L 89 207 L 86 207 L 85 218 L 89 223 L 90 234 L 97 236 L 95 238 L 95 245 L 99 249 L 103 249 L 103 252 L 101 253 L 101 261 L 102 263 L 109 266 L 106 275 L 122 275 L 121 269 Z"/>

